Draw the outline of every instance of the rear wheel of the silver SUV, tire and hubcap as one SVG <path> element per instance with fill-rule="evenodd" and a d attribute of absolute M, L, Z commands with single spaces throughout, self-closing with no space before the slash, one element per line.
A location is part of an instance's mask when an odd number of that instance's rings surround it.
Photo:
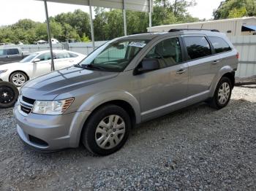
<path fill-rule="evenodd" d="M 216 90 L 214 92 L 214 97 L 211 98 L 210 106 L 215 109 L 222 109 L 223 107 L 227 106 L 228 102 L 230 101 L 232 93 L 232 85 L 230 79 L 228 77 L 222 77 Z"/>

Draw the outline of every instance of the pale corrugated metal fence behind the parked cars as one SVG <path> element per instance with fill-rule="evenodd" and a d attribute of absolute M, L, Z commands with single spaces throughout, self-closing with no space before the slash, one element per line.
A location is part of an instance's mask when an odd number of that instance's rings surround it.
<path fill-rule="evenodd" d="M 239 52 L 239 64 L 236 77 L 251 77 L 256 75 L 256 36 L 230 36 L 231 42 Z M 105 41 L 95 42 L 95 47 L 104 44 Z M 49 50 L 48 44 L 24 44 L 15 45 L 23 51 L 37 52 L 41 50 Z M 88 55 L 92 50 L 91 42 L 78 42 L 69 44 L 53 44 L 53 49 L 70 50 Z"/>

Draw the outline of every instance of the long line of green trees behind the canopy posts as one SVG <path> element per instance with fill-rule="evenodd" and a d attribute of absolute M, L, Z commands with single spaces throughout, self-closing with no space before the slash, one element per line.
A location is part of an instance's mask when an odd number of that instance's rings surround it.
<path fill-rule="evenodd" d="M 187 23 L 198 21 L 187 13 L 187 7 L 195 4 L 195 0 L 156 0 L 152 13 L 152 26 Z M 231 14 L 231 13 L 230 13 Z M 233 15 L 238 14 L 235 11 Z M 146 32 L 148 12 L 127 11 L 127 34 Z M 50 17 L 52 38 L 65 42 L 67 39 L 89 42 L 91 37 L 89 14 L 80 9 Z M 109 40 L 124 36 L 123 12 L 120 9 L 95 9 L 95 40 Z M 48 41 L 46 23 L 33 20 L 19 20 L 11 26 L 0 28 L 0 42 L 23 42 L 32 44 L 39 39 Z"/>

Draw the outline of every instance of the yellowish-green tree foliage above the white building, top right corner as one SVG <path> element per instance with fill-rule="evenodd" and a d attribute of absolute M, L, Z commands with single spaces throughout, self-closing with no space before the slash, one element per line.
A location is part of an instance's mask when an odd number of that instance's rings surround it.
<path fill-rule="evenodd" d="M 214 19 L 252 17 L 256 15 L 255 0 L 225 0 L 214 11 Z"/>

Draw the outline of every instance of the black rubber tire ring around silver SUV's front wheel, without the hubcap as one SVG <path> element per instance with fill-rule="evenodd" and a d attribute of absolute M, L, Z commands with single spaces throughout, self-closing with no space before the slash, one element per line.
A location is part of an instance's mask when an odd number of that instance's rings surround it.
<path fill-rule="evenodd" d="M 97 145 L 97 142 L 95 140 L 95 131 L 97 129 L 97 126 L 99 125 L 99 122 L 105 117 L 108 117 L 110 114 L 117 114 L 118 116 L 123 118 L 125 122 L 124 138 L 116 147 L 112 149 L 102 149 Z M 121 147 L 123 147 L 123 145 L 127 141 L 129 131 L 131 129 L 131 120 L 127 112 L 120 106 L 106 105 L 100 109 L 97 109 L 97 111 L 91 114 L 91 117 L 89 117 L 89 121 L 86 122 L 86 125 L 83 128 L 84 129 L 82 132 L 82 141 L 86 149 L 89 149 L 89 151 L 92 152 L 94 155 L 110 155 L 113 152 L 118 151 L 118 149 L 121 149 Z"/>

